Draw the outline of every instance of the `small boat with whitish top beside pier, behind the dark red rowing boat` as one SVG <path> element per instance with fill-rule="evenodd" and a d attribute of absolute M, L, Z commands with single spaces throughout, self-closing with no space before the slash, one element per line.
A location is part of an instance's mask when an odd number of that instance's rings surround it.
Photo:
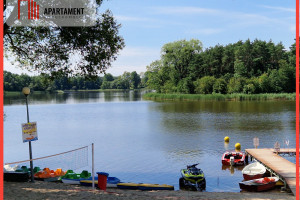
<path fill-rule="evenodd" d="M 266 167 L 260 164 L 259 162 L 254 162 L 242 170 L 244 180 L 253 180 L 262 178 L 263 175 L 266 173 Z"/>

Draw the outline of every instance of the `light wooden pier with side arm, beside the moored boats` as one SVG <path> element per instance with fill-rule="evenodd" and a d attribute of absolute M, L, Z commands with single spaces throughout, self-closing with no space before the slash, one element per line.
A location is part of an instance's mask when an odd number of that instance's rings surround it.
<path fill-rule="evenodd" d="M 245 151 L 249 156 L 262 163 L 271 173 L 277 175 L 296 195 L 296 164 L 278 155 L 296 153 L 296 149 L 281 149 L 278 154 L 274 149 L 246 149 Z"/>

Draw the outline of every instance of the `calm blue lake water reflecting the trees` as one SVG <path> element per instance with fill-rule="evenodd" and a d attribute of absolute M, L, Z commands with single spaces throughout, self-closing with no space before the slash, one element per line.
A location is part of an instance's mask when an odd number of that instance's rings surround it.
<path fill-rule="evenodd" d="M 4 103 L 4 162 L 26 160 L 24 96 L 6 94 Z M 140 91 L 71 92 L 31 94 L 29 113 L 39 137 L 32 142 L 33 158 L 89 145 L 90 170 L 94 143 L 96 171 L 123 182 L 164 183 L 176 189 L 180 169 L 199 163 L 206 191 L 239 192 L 242 167 L 222 167 L 226 149 L 237 142 L 242 150 L 253 148 L 254 137 L 259 148 L 273 148 L 276 141 L 285 147 L 286 139 L 290 148 L 296 146 L 295 101 L 155 102 L 142 100 Z M 228 145 L 225 136 L 230 137 Z"/>

